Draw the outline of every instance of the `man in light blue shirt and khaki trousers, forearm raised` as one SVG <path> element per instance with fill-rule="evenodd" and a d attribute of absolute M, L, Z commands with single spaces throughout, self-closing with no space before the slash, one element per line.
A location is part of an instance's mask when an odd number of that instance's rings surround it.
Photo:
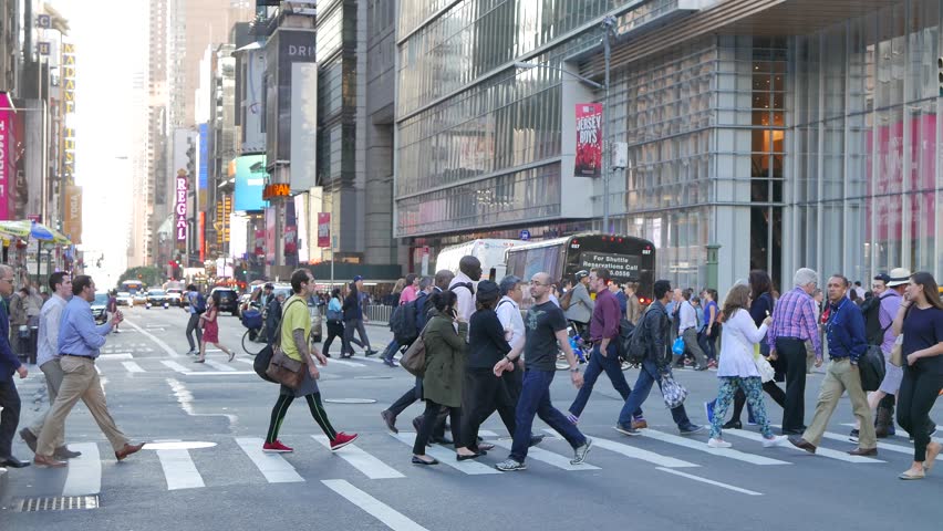
<path fill-rule="evenodd" d="M 102 389 L 99 372 L 95 371 L 95 358 L 99 357 L 99 350 L 105 344 L 105 336 L 112 331 L 112 326 L 124 320 L 124 316 L 121 312 L 116 312 L 111 322 L 101 326 L 95 325 L 90 305 L 95 300 L 95 282 L 89 275 L 80 274 L 73 279 L 72 295 L 72 300 L 62 311 L 62 321 L 59 326 L 59 353 L 62 356 L 59 363 L 64 376 L 59 387 L 59 396 L 55 397 L 55 403 L 46 414 L 37 442 L 37 455 L 33 458 L 33 462 L 40 467 L 65 466 L 64 461 L 53 457 L 55 440 L 62 436 L 65 417 L 80 398 L 108 438 L 117 460 L 144 447 L 143 442 L 132 445 L 115 426 L 105 403 L 105 392 Z"/>

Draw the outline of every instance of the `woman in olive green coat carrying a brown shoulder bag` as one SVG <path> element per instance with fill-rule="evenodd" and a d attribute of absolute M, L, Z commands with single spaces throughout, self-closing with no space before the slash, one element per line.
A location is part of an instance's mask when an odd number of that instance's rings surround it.
<path fill-rule="evenodd" d="M 423 399 L 426 400 L 426 410 L 413 445 L 414 465 L 438 465 L 437 459 L 426 455 L 426 442 L 443 408 L 447 409 L 450 416 L 452 440 L 456 445 L 462 440 L 459 423 L 468 323 L 458 317 L 456 301 L 453 291 L 432 295 L 433 310 L 429 311 L 431 319 L 423 333 L 426 346 Z"/>

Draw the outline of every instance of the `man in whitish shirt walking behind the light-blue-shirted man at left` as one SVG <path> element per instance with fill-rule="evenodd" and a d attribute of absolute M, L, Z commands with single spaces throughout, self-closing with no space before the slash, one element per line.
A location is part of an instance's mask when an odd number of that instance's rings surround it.
<path fill-rule="evenodd" d="M 62 366 L 59 364 L 59 323 L 62 320 L 62 311 L 65 310 L 65 304 L 69 299 L 72 299 L 72 278 L 63 271 L 52 273 L 49 275 L 49 288 L 52 290 L 52 296 L 43 304 L 39 314 L 37 365 L 45 375 L 49 404 L 52 406 L 59 395 L 59 387 L 62 386 L 62 378 L 65 377 L 65 373 L 62 372 Z M 49 408 L 37 418 L 32 426 L 20 430 L 20 437 L 33 454 L 37 451 L 37 440 L 39 434 L 42 433 L 42 425 L 45 423 L 48 414 Z M 66 448 L 63 434 L 56 435 L 53 445 L 55 446 L 53 458 L 58 460 L 71 459 L 82 455 L 81 451 L 72 451 Z"/>

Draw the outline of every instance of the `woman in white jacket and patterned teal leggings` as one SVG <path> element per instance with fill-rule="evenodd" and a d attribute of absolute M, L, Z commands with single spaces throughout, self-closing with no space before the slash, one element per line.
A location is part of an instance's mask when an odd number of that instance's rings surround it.
<path fill-rule="evenodd" d="M 707 446 L 711 448 L 729 448 L 732 446 L 721 438 L 721 428 L 737 388 L 743 389 L 747 397 L 747 404 L 753 408 L 754 417 L 763 434 L 763 446 L 781 445 L 786 441 L 786 437 L 777 437 L 769 429 L 766 405 L 763 402 L 763 382 L 754 362 L 754 345 L 766 336 L 766 329 L 769 326 L 771 317 L 767 316 L 766 321 L 757 329 L 749 315 L 749 287 L 737 284 L 727 293 L 722 320 L 724 327 L 721 332 L 721 363 L 717 366 L 721 388 L 717 392 L 714 418 L 711 423 L 711 438 L 707 440 Z"/>

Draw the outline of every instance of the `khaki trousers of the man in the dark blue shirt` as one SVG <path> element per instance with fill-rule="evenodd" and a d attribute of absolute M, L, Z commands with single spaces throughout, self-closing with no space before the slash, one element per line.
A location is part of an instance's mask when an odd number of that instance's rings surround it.
<path fill-rule="evenodd" d="M 874 436 L 874 425 L 871 423 L 871 408 L 868 406 L 868 397 L 861 388 L 861 373 L 858 367 L 851 365 L 847 357 L 833 360 L 828 364 L 822 387 L 819 389 L 819 399 L 816 404 L 816 416 L 812 424 L 802 434 L 807 441 L 819 446 L 828 427 L 831 414 L 838 406 L 841 394 L 848 391 L 854 416 L 861 424 L 858 447 L 870 450 L 878 447 L 878 438 Z"/>

